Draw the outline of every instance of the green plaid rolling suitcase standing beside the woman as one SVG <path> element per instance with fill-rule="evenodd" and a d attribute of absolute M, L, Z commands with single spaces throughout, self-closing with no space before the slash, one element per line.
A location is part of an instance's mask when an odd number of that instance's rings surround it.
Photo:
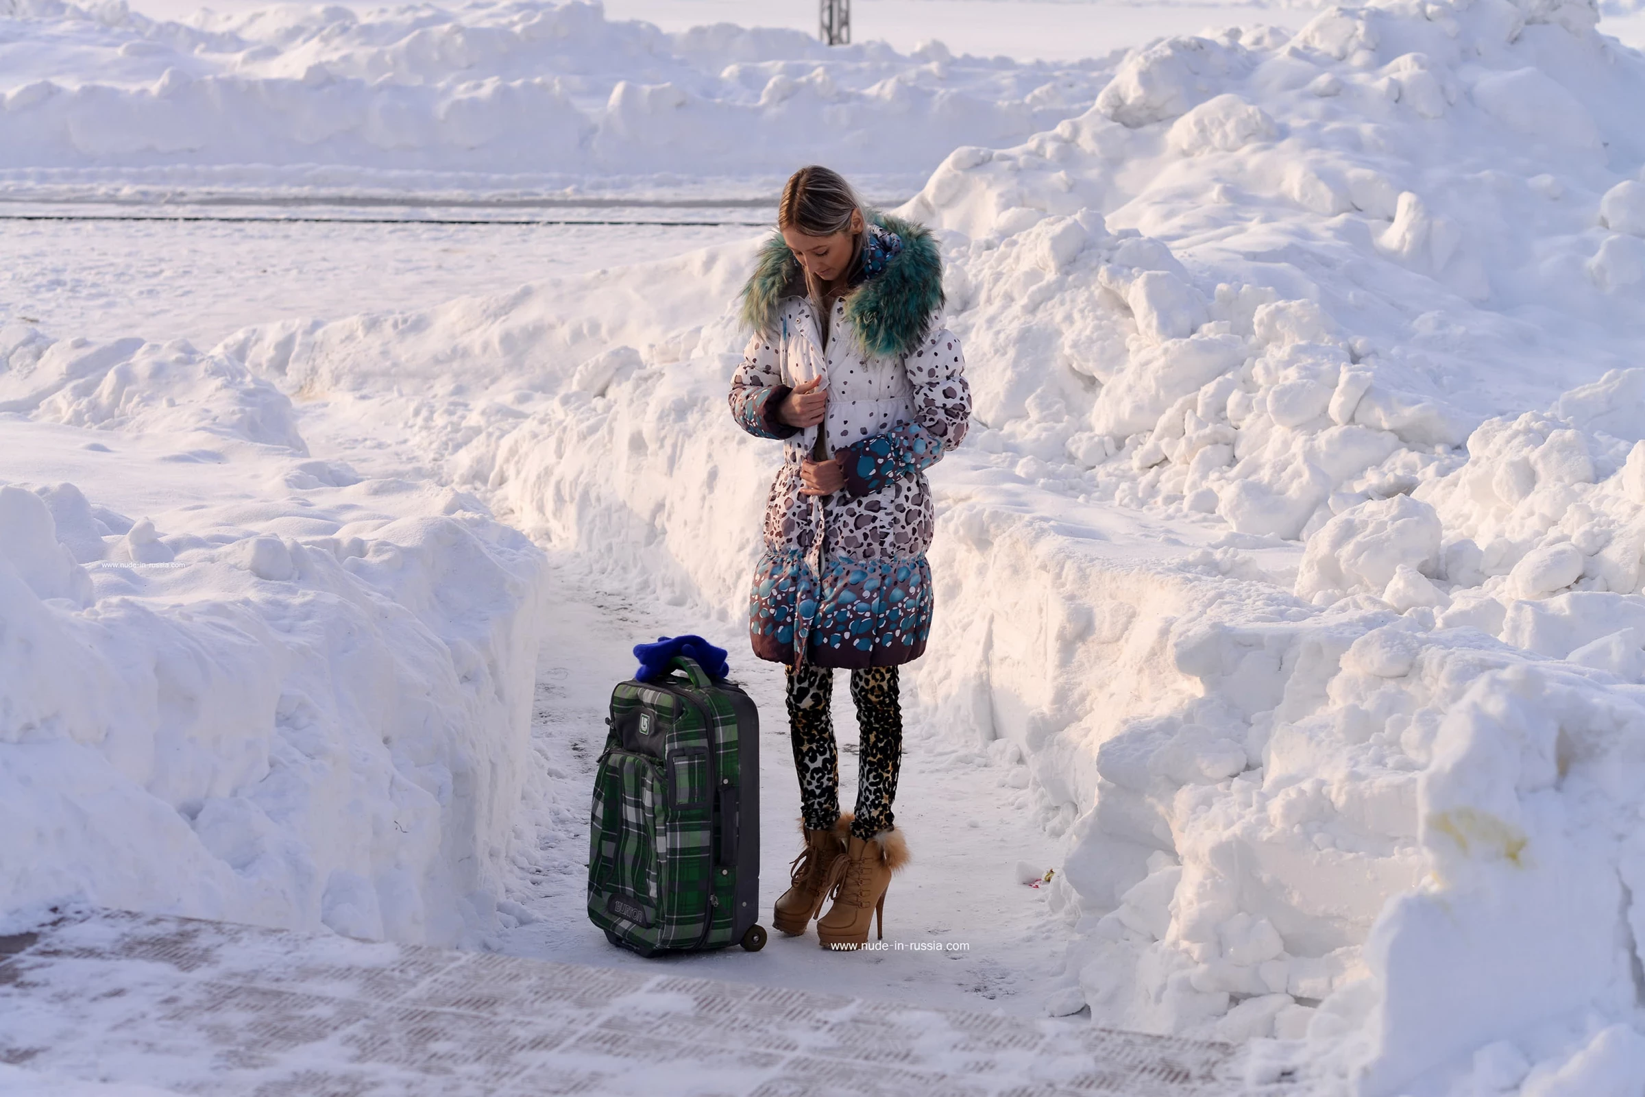
<path fill-rule="evenodd" d="M 760 714 L 678 656 L 612 691 L 589 826 L 589 919 L 640 956 L 765 946 Z"/>

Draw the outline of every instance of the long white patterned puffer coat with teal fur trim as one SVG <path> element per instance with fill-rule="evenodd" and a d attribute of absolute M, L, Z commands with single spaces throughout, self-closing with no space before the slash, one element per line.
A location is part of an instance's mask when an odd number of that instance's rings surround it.
<path fill-rule="evenodd" d="M 959 446 L 971 390 L 959 340 L 941 327 L 943 263 L 920 225 L 875 214 L 824 345 L 799 262 L 772 237 L 744 288 L 753 339 L 730 386 L 737 423 L 783 439 L 748 597 L 753 653 L 860 668 L 920 658 L 931 633 L 931 490 L 924 469 Z M 827 390 L 824 447 L 846 487 L 799 493 L 816 426 L 776 418 L 813 377 Z"/>

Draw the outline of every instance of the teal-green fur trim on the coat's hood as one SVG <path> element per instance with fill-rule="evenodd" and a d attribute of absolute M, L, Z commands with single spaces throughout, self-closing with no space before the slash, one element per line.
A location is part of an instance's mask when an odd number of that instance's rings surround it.
<path fill-rule="evenodd" d="M 880 357 L 908 354 L 926 337 L 931 314 L 943 308 L 943 255 L 924 225 L 869 211 L 869 220 L 901 237 L 903 250 L 885 270 L 846 294 L 846 322 L 862 340 L 864 350 Z M 760 257 L 742 288 L 742 321 L 757 332 L 772 334 L 785 298 L 806 296 L 799 260 L 773 234 L 760 245 Z"/>

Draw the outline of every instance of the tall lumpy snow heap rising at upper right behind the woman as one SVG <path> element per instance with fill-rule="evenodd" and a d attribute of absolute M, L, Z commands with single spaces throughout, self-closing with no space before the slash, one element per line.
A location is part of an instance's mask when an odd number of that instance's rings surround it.
<path fill-rule="evenodd" d="M 1087 115 L 957 150 L 908 212 L 969 238 L 956 304 L 1003 367 L 980 416 L 1105 497 L 1296 538 L 1632 367 L 1645 64 L 1592 21 L 1388 5 L 1171 39 Z"/>

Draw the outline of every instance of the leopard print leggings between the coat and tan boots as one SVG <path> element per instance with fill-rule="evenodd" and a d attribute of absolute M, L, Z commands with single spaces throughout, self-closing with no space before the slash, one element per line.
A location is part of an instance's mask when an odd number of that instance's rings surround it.
<path fill-rule="evenodd" d="M 813 831 L 839 819 L 839 750 L 829 699 L 834 671 L 826 666 L 788 668 L 788 734 L 799 776 L 799 811 Z M 892 829 L 897 770 L 903 757 L 903 711 L 897 697 L 897 668 L 870 666 L 850 673 L 857 706 L 857 817 L 850 832 L 872 839 Z"/>

